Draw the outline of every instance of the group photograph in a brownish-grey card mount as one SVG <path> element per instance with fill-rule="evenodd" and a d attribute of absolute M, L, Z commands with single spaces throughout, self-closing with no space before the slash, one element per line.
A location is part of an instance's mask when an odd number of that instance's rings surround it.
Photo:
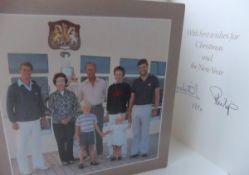
<path fill-rule="evenodd" d="M 0 13 L 6 175 L 167 166 L 184 5 L 82 4 L 92 11 Z"/>

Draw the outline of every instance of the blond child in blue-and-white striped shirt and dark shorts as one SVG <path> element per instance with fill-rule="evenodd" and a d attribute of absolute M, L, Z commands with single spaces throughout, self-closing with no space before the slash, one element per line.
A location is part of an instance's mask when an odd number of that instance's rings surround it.
<path fill-rule="evenodd" d="M 97 117 L 96 115 L 90 113 L 91 111 L 91 105 L 87 101 L 82 101 L 80 103 L 81 110 L 83 111 L 83 114 L 80 115 L 75 123 L 76 129 L 75 129 L 75 136 L 77 140 L 79 141 L 80 144 L 80 163 L 79 163 L 79 168 L 83 169 L 84 164 L 84 150 L 85 147 L 88 145 L 88 151 L 89 151 L 89 156 L 91 160 L 91 165 L 98 165 L 99 163 L 96 162 L 96 157 L 95 157 L 95 129 L 97 130 L 98 134 L 104 137 L 108 132 L 101 132 L 99 129 L 99 126 L 97 124 Z"/>

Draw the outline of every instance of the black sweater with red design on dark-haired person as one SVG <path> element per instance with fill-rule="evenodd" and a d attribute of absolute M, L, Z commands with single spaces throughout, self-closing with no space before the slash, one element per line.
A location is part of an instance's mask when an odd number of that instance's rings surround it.
<path fill-rule="evenodd" d="M 131 95 L 128 83 L 115 83 L 108 88 L 107 111 L 109 114 L 125 113 Z"/>

